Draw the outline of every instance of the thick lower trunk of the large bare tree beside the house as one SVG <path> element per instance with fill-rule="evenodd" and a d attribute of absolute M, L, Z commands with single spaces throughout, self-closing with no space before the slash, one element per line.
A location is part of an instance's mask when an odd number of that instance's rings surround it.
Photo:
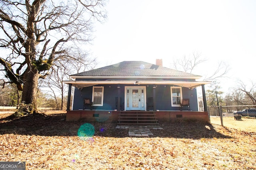
<path fill-rule="evenodd" d="M 28 70 L 28 69 L 27 69 Z M 22 102 L 25 104 L 31 104 L 33 111 L 37 112 L 36 102 L 37 102 L 37 91 L 38 91 L 38 78 L 39 73 L 35 69 L 30 69 L 26 71 L 24 76 L 23 91 L 22 91 Z"/>

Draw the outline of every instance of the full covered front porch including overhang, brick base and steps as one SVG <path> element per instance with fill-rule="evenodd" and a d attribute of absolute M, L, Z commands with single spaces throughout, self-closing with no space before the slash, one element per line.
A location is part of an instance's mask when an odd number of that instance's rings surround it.
<path fill-rule="evenodd" d="M 104 80 L 104 81 L 68 81 L 68 105 L 66 121 L 116 122 L 118 125 L 158 125 L 159 121 L 194 120 L 209 122 L 206 111 L 204 85 L 208 82 L 170 81 L 170 80 Z M 73 99 L 70 110 L 71 88 L 76 87 L 76 100 Z M 198 111 L 196 87 L 202 87 L 204 111 Z M 102 88 L 102 105 L 92 105 L 84 109 L 82 101 L 92 98 L 94 88 Z M 173 88 L 180 90 L 173 92 Z M 104 95 L 103 95 L 104 89 Z M 182 93 L 183 92 L 183 93 Z M 178 96 L 172 96 L 173 94 Z M 89 97 L 88 97 L 89 96 Z M 190 110 L 180 109 L 176 98 L 190 98 Z M 150 108 L 148 99 L 152 98 Z M 93 100 L 92 100 L 93 101 Z M 175 105 L 174 105 L 175 104 Z M 138 107 L 132 107 L 132 106 Z M 122 107 L 121 107 L 122 106 Z"/>

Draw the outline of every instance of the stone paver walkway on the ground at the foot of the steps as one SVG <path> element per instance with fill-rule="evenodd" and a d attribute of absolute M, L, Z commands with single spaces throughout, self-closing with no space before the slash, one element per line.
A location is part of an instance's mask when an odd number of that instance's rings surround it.
<path fill-rule="evenodd" d="M 153 135 L 150 129 L 163 129 L 159 125 L 117 125 L 116 129 L 129 129 L 129 137 L 149 137 Z"/>

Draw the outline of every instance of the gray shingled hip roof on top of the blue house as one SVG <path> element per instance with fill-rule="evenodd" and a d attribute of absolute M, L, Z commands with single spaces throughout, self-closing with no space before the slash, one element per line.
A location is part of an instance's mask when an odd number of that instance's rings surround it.
<path fill-rule="evenodd" d="M 71 76 L 174 76 L 194 77 L 198 76 L 187 72 L 150 64 L 143 61 L 123 61 L 102 68 L 73 74 Z"/>

